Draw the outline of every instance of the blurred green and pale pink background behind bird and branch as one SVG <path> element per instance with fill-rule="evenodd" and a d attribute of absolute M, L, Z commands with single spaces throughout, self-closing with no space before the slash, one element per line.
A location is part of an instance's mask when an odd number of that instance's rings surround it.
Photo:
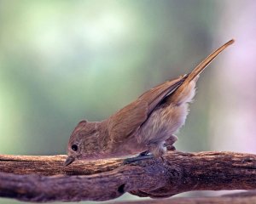
<path fill-rule="evenodd" d="M 0 0 L 0 154 L 65 154 L 81 119 L 108 117 L 233 37 L 201 74 L 176 147 L 256 153 L 255 10 L 253 0 Z"/>

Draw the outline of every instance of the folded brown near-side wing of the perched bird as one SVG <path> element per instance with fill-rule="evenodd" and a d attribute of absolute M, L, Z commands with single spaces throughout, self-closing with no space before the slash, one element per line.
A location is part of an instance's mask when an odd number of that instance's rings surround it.
<path fill-rule="evenodd" d="M 184 79 L 185 77 L 180 77 L 151 88 L 136 101 L 130 105 L 126 105 L 123 109 L 111 116 L 108 123 L 108 131 L 111 138 L 118 141 L 119 137 L 129 137 L 131 133 L 134 133 L 143 122 L 147 121 L 148 116 L 154 111 L 154 108 L 166 96 L 172 94 L 183 83 Z"/>

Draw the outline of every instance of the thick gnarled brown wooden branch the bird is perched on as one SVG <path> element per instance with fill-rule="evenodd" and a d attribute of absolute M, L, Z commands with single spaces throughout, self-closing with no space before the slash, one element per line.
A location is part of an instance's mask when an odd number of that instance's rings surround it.
<path fill-rule="evenodd" d="M 169 152 L 162 159 L 75 161 L 0 156 L 0 196 L 20 201 L 107 201 L 125 192 L 153 198 L 191 190 L 256 190 L 256 156 Z"/>

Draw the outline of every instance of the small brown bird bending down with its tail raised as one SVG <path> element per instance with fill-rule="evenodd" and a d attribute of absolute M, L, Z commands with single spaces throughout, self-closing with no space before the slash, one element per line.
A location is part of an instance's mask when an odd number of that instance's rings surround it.
<path fill-rule="evenodd" d="M 215 50 L 191 73 L 164 82 L 102 122 L 81 121 L 74 128 L 67 145 L 67 166 L 75 160 L 96 160 L 142 153 L 160 157 L 166 146 L 172 149 L 177 140 L 173 133 L 182 127 L 188 104 L 195 96 L 199 74 L 224 48 Z"/>

